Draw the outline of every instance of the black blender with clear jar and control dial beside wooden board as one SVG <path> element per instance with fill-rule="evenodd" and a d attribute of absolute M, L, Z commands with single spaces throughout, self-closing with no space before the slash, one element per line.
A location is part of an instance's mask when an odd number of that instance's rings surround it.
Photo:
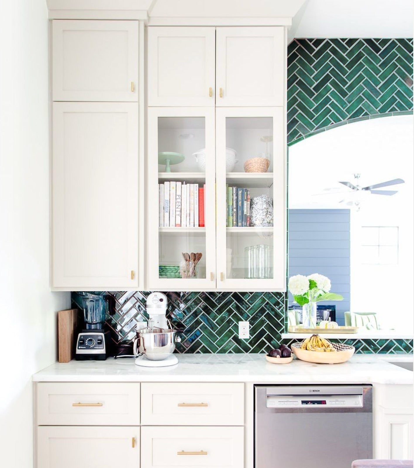
<path fill-rule="evenodd" d="M 106 300 L 101 294 L 86 292 L 82 294 L 82 307 L 85 329 L 78 335 L 75 359 L 104 361 L 106 344 L 103 324 L 106 316 Z"/>

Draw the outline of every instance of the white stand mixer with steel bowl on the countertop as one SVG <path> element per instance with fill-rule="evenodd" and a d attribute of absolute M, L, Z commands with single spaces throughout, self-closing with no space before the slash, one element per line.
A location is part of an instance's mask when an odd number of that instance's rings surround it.
<path fill-rule="evenodd" d="M 148 326 L 138 328 L 137 339 L 134 341 L 134 354 L 137 366 L 165 367 L 178 364 L 174 356 L 175 330 L 170 328 L 167 313 L 167 296 L 162 292 L 152 292 L 146 300 L 146 311 L 149 315 Z M 175 341 L 180 341 L 177 337 Z M 138 354 L 138 349 L 139 354 Z"/>

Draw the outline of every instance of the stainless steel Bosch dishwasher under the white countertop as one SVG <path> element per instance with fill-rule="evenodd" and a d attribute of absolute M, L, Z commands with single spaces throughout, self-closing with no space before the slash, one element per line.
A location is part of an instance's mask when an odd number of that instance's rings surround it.
<path fill-rule="evenodd" d="M 350 468 L 367 458 L 370 385 L 254 387 L 255 468 Z"/>

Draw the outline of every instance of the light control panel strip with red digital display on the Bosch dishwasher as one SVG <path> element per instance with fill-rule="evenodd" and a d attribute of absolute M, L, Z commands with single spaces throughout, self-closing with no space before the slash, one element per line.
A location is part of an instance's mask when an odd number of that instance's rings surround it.
<path fill-rule="evenodd" d="M 362 395 L 267 395 L 267 408 L 362 408 Z"/>

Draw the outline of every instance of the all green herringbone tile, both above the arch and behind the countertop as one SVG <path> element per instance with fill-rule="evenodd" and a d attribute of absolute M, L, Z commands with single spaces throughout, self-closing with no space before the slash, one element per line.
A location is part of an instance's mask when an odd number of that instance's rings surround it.
<path fill-rule="evenodd" d="M 354 119 L 413 110 L 412 39 L 295 39 L 288 47 L 288 144 Z M 149 292 L 109 292 L 107 326 L 128 343 L 146 320 Z M 279 292 L 168 292 L 168 317 L 184 329 L 184 353 L 265 352 L 285 327 L 286 295 Z M 80 305 L 77 293 L 72 300 Z M 250 322 L 250 339 L 238 322 Z M 285 341 L 286 344 L 296 340 Z M 412 353 L 413 340 L 334 340 L 357 353 Z"/>

